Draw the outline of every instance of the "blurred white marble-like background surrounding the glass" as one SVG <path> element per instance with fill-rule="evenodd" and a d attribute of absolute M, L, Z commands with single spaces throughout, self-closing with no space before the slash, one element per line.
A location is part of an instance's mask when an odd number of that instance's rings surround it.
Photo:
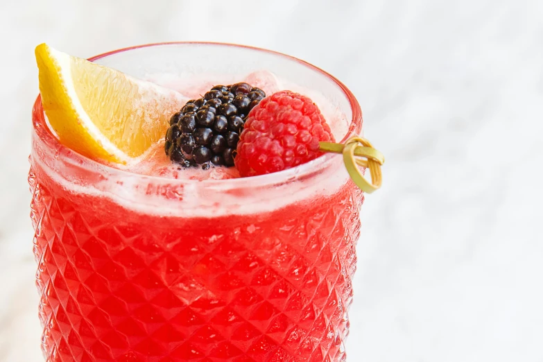
<path fill-rule="evenodd" d="M 42 361 L 34 47 L 208 40 L 334 74 L 387 157 L 363 206 L 348 361 L 543 361 L 542 19 L 538 0 L 2 0 L 0 360 Z"/>

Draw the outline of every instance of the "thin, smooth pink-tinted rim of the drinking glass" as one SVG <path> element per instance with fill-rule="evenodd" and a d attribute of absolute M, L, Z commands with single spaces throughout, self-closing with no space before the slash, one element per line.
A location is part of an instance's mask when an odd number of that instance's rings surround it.
<path fill-rule="evenodd" d="M 240 45 L 240 44 L 230 44 L 230 43 L 222 43 L 222 42 L 158 42 L 158 43 L 150 43 L 150 44 L 141 44 L 136 46 L 128 46 L 125 48 L 117 49 L 114 51 L 107 51 L 106 53 L 101 53 L 99 55 L 94 55 L 91 58 L 87 58 L 87 60 L 94 62 L 96 60 L 106 58 L 110 55 L 115 55 L 118 53 L 123 53 L 126 51 L 132 51 L 135 49 L 141 49 L 141 48 L 148 48 L 153 46 L 168 46 L 168 45 L 202 45 L 202 46 L 230 46 L 234 48 L 241 48 L 241 49 L 249 49 L 251 51 L 259 51 L 262 53 L 268 53 L 271 55 L 277 55 L 282 58 L 287 58 L 288 60 L 293 60 L 294 62 L 301 64 L 304 67 L 308 67 L 309 69 L 312 69 L 313 71 L 316 71 L 318 74 L 325 76 L 329 78 L 333 83 L 335 83 L 340 89 L 341 92 L 343 92 L 343 95 L 345 98 L 347 98 L 347 101 L 350 104 L 351 112 L 352 112 L 352 119 L 349 122 L 349 128 L 343 137 L 341 139 L 341 143 L 344 143 L 349 139 L 350 137 L 354 135 L 359 135 L 359 133 L 362 130 L 362 110 L 361 107 L 356 101 L 356 98 L 354 97 L 354 94 L 350 91 L 350 89 L 347 88 L 343 83 L 341 83 L 340 80 L 338 80 L 336 77 L 329 74 L 327 71 L 324 71 L 320 69 L 319 67 L 316 67 L 315 65 L 306 62 L 304 60 L 295 58 L 291 55 L 286 55 L 284 53 L 279 53 L 277 51 L 271 51 L 268 49 L 258 48 L 255 46 L 248 46 L 248 45 Z M 38 125 L 41 125 L 42 127 L 38 127 Z M 288 182 L 288 180 L 293 179 L 300 179 L 300 178 L 306 178 L 314 173 L 318 173 L 318 171 L 327 168 L 327 166 L 330 166 L 330 164 L 333 164 L 334 162 L 341 162 L 339 160 L 340 155 L 335 155 L 332 153 L 325 153 L 325 155 L 322 155 L 315 160 L 312 160 L 310 162 L 307 162 L 305 164 L 300 164 L 299 166 L 295 166 L 291 169 L 286 169 L 283 171 L 275 172 L 275 173 L 268 173 L 266 175 L 257 175 L 252 176 L 250 178 L 230 178 L 225 180 L 187 180 L 187 179 L 175 179 L 175 178 L 169 178 L 167 176 L 160 176 L 160 175 L 144 175 L 141 173 L 134 173 L 132 171 L 123 170 L 123 169 L 117 169 L 114 166 L 110 166 L 108 164 L 103 164 L 101 162 L 98 162 L 96 160 L 93 160 L 89 157 L 86 157 L 84 155 L 81 155 L 80 153 L 77 153 L 74 150 L 71 150 L 71 148 L 68 148 L 67 146 L 64 146 L 60 143 L 60 140 L 53 135 L 53 132 L 49 129 L 49 126 L 46 124 L 45 117 L 44 117 L 44 111 L 42 108 L 42 98 L 41 95 L 38 94 L 36 101 L 33 106 L 33 132 L 35 132 L 37 138 L 48 144 L 47 150 L 55 150 L 55 158 L 61 158 L 63 162 L 67 162 L 71 165 L 76 165 L 78 167 L 83 167 L 88 170 L 96 171 L 96 172 L 102 172 L 102 173 L 108 173 L 112 175 L 119 175 L 121 177 L 130 177 L 130 178 L 140 178 L 141 180 L 146 180 L 147 182 L 156 182 L 159 184 L 163 184 L 166 182 L 167 184 L 200 184 L 202 187 L 262 187 L 266 185 L 271 184 L 278 184 L 278 183 L 284 183 Z"/>

